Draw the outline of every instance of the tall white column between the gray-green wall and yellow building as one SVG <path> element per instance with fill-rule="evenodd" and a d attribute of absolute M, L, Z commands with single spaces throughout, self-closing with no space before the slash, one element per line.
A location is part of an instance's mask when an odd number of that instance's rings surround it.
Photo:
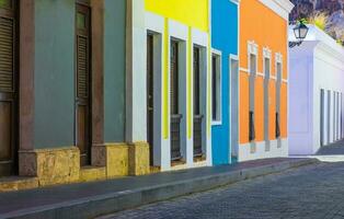
<path fill-rule="evenodd" d="M 147 141 L 145 0 L 127 0 L 126 141 Z"/>

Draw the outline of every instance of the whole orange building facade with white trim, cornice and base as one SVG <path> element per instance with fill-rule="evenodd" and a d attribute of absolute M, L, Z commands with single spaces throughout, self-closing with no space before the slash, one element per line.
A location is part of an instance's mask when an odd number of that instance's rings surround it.
<path fill-rule="evenodd" d="M 240 1 L 239 161 L 288 154 L 287 0 Z"/>

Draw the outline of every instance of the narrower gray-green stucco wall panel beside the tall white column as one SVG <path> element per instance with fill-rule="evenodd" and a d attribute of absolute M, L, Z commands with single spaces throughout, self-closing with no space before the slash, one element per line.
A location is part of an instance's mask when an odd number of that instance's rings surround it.
<path fill-rule="evenodd" d="M 125 0 L 105 0 L 104 141 L 125 138 Z"/>

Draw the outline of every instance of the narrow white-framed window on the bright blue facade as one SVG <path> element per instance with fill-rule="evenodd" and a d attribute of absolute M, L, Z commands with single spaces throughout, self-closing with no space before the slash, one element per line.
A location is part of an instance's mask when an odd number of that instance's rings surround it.
<path fill-rule="evenodd" d="M 211 57 L 211 92 L 213 92 L 213 122 L 221 122 L 221 56 L 213 54 Z"/>

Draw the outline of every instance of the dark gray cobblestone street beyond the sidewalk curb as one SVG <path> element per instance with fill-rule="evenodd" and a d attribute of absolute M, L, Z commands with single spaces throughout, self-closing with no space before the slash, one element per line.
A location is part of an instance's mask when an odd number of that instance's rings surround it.
<path fill-rule="evenodd" d="M 344 162 L 295 169 L 105 218 L 344 218 Z"/>

